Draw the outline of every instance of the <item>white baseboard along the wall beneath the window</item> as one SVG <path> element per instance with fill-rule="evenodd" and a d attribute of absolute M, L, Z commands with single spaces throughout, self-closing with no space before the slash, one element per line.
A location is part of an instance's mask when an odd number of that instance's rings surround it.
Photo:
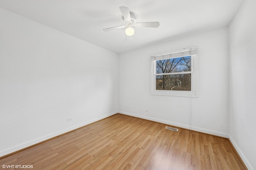
<path fill-rule="evenodd" d="M 124 114 L 124 115 L 130 115 L 130 116 L 134 116 L 134 117 L 139 117 L 139 118 L 147 119 L 147 120 L 151 120 L 151 121 L 156 121 L 156 122 L 164 123 L 164 124 L 167 124 L 167 125 L 172 125 L 172 126 L 176 126 L 176 127 L 182 127 L 182 128 L 185 128 L 185 129 L 190 129 L 189 125 L 184 125 L 184 124 L 175 123 L 175 122 L 171 122 L 171 121 L 166 121 L 166 120 L 162 120 L 162 119 L 156 119 L 154 117 L 137 115 L 137 114 L 128 113 L 128 112 L 125 112 L 125 111 L 119 111 L 118 113 L 121 113 L 121 114 Z M 220 136 L 220 137 L 229 138 L 229 135 L 226 134 L 226 133 L 216 132 L 216 131 L 212 131 L 212 130 L 209 130 L 209 129 L 203 129 L 203 128 L 200 128 L 200 127 L 192 126 L 191 130 L 199 131 L 199 132 L 202 132 L 202 133 L 208 133 L 208 134 L 216 135 L 216 136 Z"/>

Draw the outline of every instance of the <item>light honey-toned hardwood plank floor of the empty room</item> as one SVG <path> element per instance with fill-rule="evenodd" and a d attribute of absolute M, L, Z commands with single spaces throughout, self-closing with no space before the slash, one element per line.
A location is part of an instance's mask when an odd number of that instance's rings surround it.
<path fill-rule="evenodd" d="M 229 139 L 181 128 L 176 132 L 165 127 L 162 123 L 116 114 L 2 158 L 0 167 L 32 165 L 36 170 L 247 169 Z"/>

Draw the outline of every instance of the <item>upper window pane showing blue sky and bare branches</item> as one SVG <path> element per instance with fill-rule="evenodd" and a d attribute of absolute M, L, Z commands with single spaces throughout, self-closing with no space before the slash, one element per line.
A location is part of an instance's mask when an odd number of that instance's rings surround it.
<path fill-rule="evenodd" d="M 191 71 L 191 56 L 156 61 L 156 74 Z"/>

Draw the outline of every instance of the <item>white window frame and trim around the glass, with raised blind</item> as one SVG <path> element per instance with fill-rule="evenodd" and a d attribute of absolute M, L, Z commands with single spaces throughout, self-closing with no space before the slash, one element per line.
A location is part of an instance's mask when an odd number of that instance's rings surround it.
<path fill-rule="evenodd" d="M 190 53 L 192 51 L 192 53 Z M 156 90 L 156 61 L 161 59 L 171 59 L 176 57 L 185 57 L 191 56 L 191 71 L 190 72 L 176 72 L 171 74 L 182 74 L 182 73 L 191 73 L 191 91 L 176 91 L 176 90 Z M 152 95 L 164 95 L 164 96 L 180 96 L 180 97 L 194 97 L 197 98 L 196 95 L 196 81 L 197 81 L 197 51 L 196 47 L 182 49 L 180 51 L 153 55 L 151 57 L 151 94 Z M 162 75 L 166 75 L 170 73 L 162 73 Z M 160 74 L 158 74 L 160 75 Z"/>

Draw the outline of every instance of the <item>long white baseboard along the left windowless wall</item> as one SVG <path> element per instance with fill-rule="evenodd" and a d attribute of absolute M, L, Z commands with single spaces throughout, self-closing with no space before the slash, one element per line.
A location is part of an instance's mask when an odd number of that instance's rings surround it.
<path fill-rule="evenodd" d="M 78 124 L 78 125 L 74 125 L 74 126 L 69 127 L 69 128 L 67 128 L 67 129 L 63 129 L 63 130 L 61 130 L 61 131 L 57 131 L 57 132 L 55 132 L 55 133 L 51 133 L 51 134 L 49 134 L 49 135 L 46 135 L 46 136 L 43 136 L 43 137 L 40 137 L 40 138 L 31 140 L 31 141 L 28 141 L 28 142 L 26 142 L 26 143 L 21 143 L 21 144 L 19 144 L 19 145 L 14 146 L 14 147 L 1 150 L 1 151 L 0 151 L 0 157 L 1 157 L 1 156 L 4 156 L 4 155 L 7 155 L 7 154 L 10 154 L 10 153 L 13 153 L 13 152 L 16 152 L 16 151 L 18 151 L 18 150 L 21 150 L 21 149 L 30 147 L 30 146 L 32 146 L 32 145 L 35 145 L 35 144 L 40 143 L 40 142 L 42 142 L 42 141 L 51 139 L 51 138 L 56 137 L 56 136 L 58 136 L 58 135 L 62 135 L 62 134 L 64 134 L 64 133 L 67 133 L 67 132 L 72 131 L 72 130 L 74 130 L 74 129 L 78 129 L 79 127 L 83 127 L 83 126 L 85 126 L 85 125 L 88 125 L 88 124 L 93 123 L 93 122 L 95 122 L 95 121 L 98 121 L 98 120 L 100 120 L 100 119 L 104 119 L 104 118 L 109 117 L 109 116 L 111 116 L 111 115 L 114 115 L 114 114 L 116 114 L 116 113 L 118 113 L 118 112 L 115 111 L 115 112 L 112 112 L 112 113 L 110 113 L 110 114 L 107 114 L 107 115 L 103 115 L 103 116 L 101 116 L 101 117 L 98 117 L 98 118 L 96 118 L 96 119 L 92 119 L 92 120 L 86 121 L 86 122 L 84 122 L 84 123 L 80 123 L 80 124 Z"/>

